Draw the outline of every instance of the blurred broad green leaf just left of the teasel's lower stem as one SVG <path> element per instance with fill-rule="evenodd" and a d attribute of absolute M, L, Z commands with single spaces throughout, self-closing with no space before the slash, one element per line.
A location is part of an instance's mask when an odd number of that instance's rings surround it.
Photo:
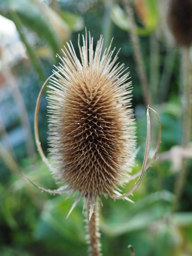
<path fill-rule="evenodd" d="M 68 241 L 84 243 L 82 221 L 84 216 L 79 209 L 79 205 L 74 208 L 70 217 L 66 219 L 74 200 L 74 198 L 65 200 L 65 196 L 56 196 L 46 201 L 35 231 L 37 239 L 57 240 L 65 237 Z M 51 232 L 47 232 L 47 230 Z"/>

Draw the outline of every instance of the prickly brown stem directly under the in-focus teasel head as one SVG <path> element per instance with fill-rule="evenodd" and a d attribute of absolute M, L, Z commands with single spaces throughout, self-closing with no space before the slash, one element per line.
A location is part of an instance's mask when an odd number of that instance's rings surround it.
<path fill-rule="evenodd" d="M 90 256 L 101 256 L 99 242 L 99 203 L 96 201 L 94 211 L 89 220 L 90 205 L 87 203 L 87 226 L 88 226 L 88 243 L 90 245 Z"/>

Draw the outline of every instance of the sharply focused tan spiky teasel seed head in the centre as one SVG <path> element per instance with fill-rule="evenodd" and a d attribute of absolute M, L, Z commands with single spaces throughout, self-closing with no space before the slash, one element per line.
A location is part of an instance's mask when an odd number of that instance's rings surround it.
<path fill-rule="evenodd" d="M 79 40 L 78 40 L 79 43 Z M 68 44 L 48 91 L 49 145 L 56 180 L 80 191 L 90 206 L 124 183 L 132 164 L 135 127 L 131 83 L 124 65 L 115 65 L 111 44 L 101 55 L 103 38 L 93 50 L 83 37 L 81 62 Z M 123 74 L 124 73 L 124 74 Z"/>

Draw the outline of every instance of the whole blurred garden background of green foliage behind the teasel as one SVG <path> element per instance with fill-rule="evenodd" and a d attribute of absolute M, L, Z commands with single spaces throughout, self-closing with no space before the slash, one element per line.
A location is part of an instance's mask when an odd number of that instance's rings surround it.
<path fill-rule="evenodd" d="M 33 120 L 38 92 L 58 63 L 56 53 L 71 40 L 78 53 L 78 33 L 85 27 L 94 45 L 113 37 L 119 62 L 129 67 L 133 83 L 137 146 L 132 173 L 141 170 L 146 142 L 146 104 L 135 62 L 132 37 L 139 38 L 150 105 L 159 113 L 162 143 L 159 158 L 127 201 L 102 198 L 101 244 L 104 256 L 192 256 L 192 171 L 187 173 L 177 207 L 174 192 L 183 158 L 182 48 L 166 22 L 167 0 L 0 0 L 0 255 L 87 255 L 83 200 L 66 219 L 75 200 L 41 193 L 25 178 L 55 189 L 50 171 L 36 151 Z M 128 10 L 128 13 L 127 13 Z M 135 24 L 133 24 L 135 22 Z M 133 31 L 132 27 L 135 25 Z M 132 33 L 134 35 L 132 35 Z M 140 74 L 141 75 L 141 74 Z M 39 115 L 40 140 L 47 151 L 46 93 Z M 157 141 L 157 121 L 151 113 L 150 156 Z M 191 170 L 191 161 L 188 163 Z M 127 191 L 134 184 L 124 188 Z"/>

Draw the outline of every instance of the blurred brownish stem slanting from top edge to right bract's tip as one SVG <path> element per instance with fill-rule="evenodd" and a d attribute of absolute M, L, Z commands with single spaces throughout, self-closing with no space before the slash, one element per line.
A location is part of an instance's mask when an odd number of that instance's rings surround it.
<path fill-rule="evenodd" d="M 133 10 L 131 7 L 131 0 L 123 0 L 123 2 L 124 2 L 125 10 L 129 17 L 129 22 L 131 25 L 130 26 L 130 39 L 131 39 L 132 48 L 133 48 L 133 52 L 134 52 L 134 58 L 135 58 L 137 69 L 138 69 L 139 80 L 141 82 L 144 104 L 146 106 L 151 105 L 150 99 L 149 99 L 149 90 L 147 87 L 147 76 L 146 76 L 146 71 L 144 70 L 144 61 L 143 61 L 143 57 L 142 57 L 139 37 L 136 33 L 137 27 L 136 27 L 136 22 L 134 19 L 134 13 L 133 13 Z"/>

